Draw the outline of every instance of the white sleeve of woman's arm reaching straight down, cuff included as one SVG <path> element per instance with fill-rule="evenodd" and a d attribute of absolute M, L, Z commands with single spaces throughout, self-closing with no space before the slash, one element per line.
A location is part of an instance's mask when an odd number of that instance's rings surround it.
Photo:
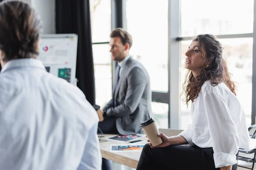
<path fill-rule="evenodd" d="M 215 167 L 236 164 L 239 136 L 227 100 L 224 99 L 226 96 L 220 96 L 218 92 L 205 92 L 203 97 Z"/>

